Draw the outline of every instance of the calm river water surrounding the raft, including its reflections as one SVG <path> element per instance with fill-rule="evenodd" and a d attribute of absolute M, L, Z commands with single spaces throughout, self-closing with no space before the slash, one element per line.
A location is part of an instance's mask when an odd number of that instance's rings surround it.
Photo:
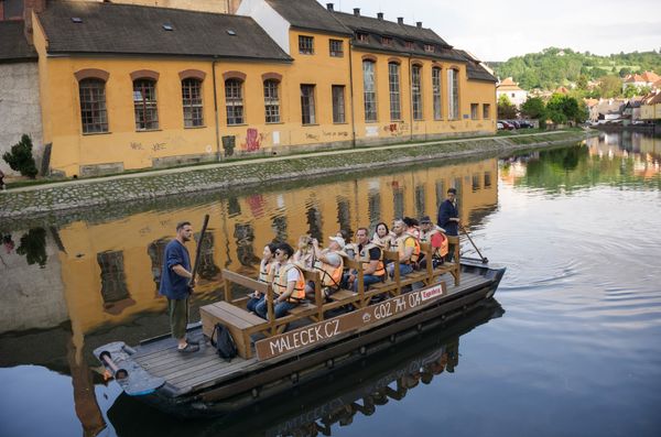
<path fill-rule="evenodd" d="M 0 436 L 659 436 L 660 162 L 660 138 L 609 133 L 0 223 Z M 451 186 L 508 269 L 497 302 L 229 420 L 177 422 L 99 375 L 94 348 L 167 330 L 156 287 L 177 221 L 212 217 L 197 307 L 220 269 L 256 275 L 273 239 L 434 217 Z"/>

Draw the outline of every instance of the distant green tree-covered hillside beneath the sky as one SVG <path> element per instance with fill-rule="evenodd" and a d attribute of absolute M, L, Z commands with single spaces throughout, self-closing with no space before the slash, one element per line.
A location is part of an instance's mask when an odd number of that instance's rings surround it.
<path fill-rule="evenodd" d="M 571 83 L 585 83 L 608 75 L 654 70 L 661 74 L 658 52 L 620 53 L 610 56 L 577 53 L 571 48 L 544 48 L 541 53 L 516 56 L 505 63 L 488 63 L 500 78 L 512 77 L 523 89 L 555 89 Z"/>

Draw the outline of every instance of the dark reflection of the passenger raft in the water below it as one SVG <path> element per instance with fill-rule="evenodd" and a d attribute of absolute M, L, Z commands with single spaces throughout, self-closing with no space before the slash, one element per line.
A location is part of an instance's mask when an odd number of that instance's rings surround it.
<path fill-rule="evenodd" d="M 108 411 L 108 419 L 122 436 L 336 435 L 358 416 L 387 414 L 383 405 L 431 390 L 426 386 L 444 384 L 459 365 L 460 337 L 502 314 L 496 301 L 486 302 L 453 321 L 229 418 L 181 423 L 120 395 Z"/>

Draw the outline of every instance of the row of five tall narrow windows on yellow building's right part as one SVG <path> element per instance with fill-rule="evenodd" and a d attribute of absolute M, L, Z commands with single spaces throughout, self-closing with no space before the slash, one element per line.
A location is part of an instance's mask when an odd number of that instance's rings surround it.
<path fill-rule="evenodd" d="M 362 61 L 362 92 L 365 101 L 365 121 L 373 122 L 378 120 L 377 112 L 377 79 L 375 75 L 376 63 L 370 59 Z M 388 63 L 388 89 L 390 96 L 390 120 L 401 120 L 401 97 L 400 97 L 400 64 Z M 447 96 L 448 96 L 448 119 L 459 119 L 459 80 L 458 72 L 454 68 L 447 70 Z M 411 103 L 413 106 L 413 120 L 423 120 L 422 105 L 422 66 L 415 64 L 411 67 Z M 441 102 L 441 67 L 432 68 L 432 102 L 434 110 L 434 120 L 443 118 Z"/>

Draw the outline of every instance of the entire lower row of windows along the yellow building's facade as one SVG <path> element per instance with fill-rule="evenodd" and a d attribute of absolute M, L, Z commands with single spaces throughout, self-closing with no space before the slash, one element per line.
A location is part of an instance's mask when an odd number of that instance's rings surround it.
<path fill-rule="evenodd" d="M 376 63 L 364 61 L 364 100 L 365 121 L 376 122 L 378 120 L 377 109 L 377 83 L 375 75 Z M 411 69 L 411 102 L 414 120 L 423 120 L 423 87 L 422 67 L 413 65 Z M 448 119 L 459 118 L 459 90 L 458 72 L 447 70 L 448 86 Z M 402 120 L 401 96 L 400 96 L 400 65 L 388 64 L 388 84 L 390 97 L 390 119 Z M 204 125 L 204 106 L 202 98 L 202 80 L 186 78 L 181 81 L 182 108 L 185 128 Z M 315 103 L 314 84 L 301 85 L 301 123 L 316 124 L 317 111 Z M 333 85 L 330 87 L 333 102 L 333 122 L 346 122 L 345 86 Z M 108 132 L 108 113 L 106 108 L 106 83 L 98 78 L 86 78 L 79 81 L 80 95 L 80 119 L 84 133 Z M 279 123 L 281 121 L 280 110 L 280 81 L 267 79 L 263 81 L 264 97 L 264 121 L 267 123 Z M 432 68 L 432 101 L 434 120 L 441 120 L 442 113 L 441 68 Z M 243 103 L 243 80 L 230 78 L 225 80 L 225 108 L 228 125 L 246 123 Z M 470 118 L 478 119 L 478 103 L 470 105 Z M 133 111 L 136 116 L 136 130 L 149 131 L 159 129 L 159 108 L 156 97 L 156 80 L 141 78 L 133 80 Z M 490 117 L 490 106 L 483 105 L 483 118 Z"/>

